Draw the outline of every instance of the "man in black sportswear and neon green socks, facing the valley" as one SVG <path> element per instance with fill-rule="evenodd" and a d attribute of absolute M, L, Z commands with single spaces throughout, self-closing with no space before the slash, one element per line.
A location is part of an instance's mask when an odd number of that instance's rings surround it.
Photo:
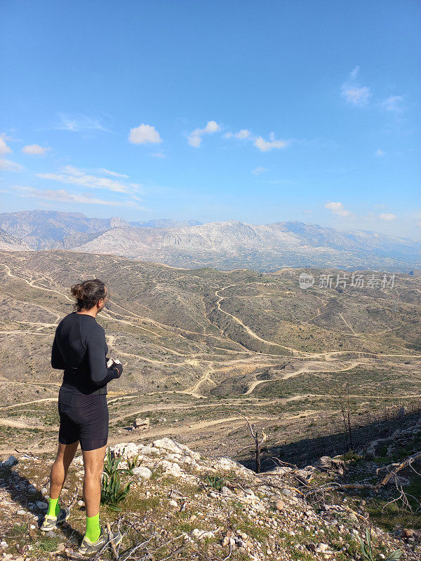
<path fill-rule="evenodd" d="M 79 553 L 98 553 L 108 541 L 100 527 L 101 476 L 108 440 L 107 383 L 119 378 L 119 360 L 107 360 L 105 331 L 96 315 L 107 302 L 107 288 L 101 280 L 84 280 L 71 288 L 76 311 L 63 318 L 55 330 L 51 366 L 64 370 L 58 397 L 60 430 L 58 453 L 51 468 L 48 512 L 41 530 L 46 532 L 69 518 L 69 509 L 60 508 L 58 498 L 67 470 L 81 445 L 83 455 L 83 499 L 86 507 L 86 534 Z M 114 543 L 121 541 L 114 532 Z"/>

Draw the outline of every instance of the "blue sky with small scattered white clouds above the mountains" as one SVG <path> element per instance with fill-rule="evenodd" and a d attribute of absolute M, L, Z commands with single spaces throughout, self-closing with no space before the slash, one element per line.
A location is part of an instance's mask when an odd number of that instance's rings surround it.
<path fill-rule="evenodd" d="M 420 239 L 417 0 L 3 0 L 0 211 Z"/>

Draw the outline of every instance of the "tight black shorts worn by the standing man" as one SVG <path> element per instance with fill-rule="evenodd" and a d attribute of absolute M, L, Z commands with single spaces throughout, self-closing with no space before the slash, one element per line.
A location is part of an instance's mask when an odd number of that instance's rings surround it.
<path fill-rule="evenodd" d="M 79 440 L 82 450 L 96 450 L 107 444 L 108 405 L 106 395 L 78 396 L 72 405 L 58 401 L 60 429 L 58 441 Z"/>

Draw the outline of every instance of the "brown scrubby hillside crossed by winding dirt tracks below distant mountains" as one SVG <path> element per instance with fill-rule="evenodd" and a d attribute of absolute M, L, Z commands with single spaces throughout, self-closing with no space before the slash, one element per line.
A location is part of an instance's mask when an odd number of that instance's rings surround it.
<path fill-rule="evenodd" d="M 98 321 L 109 356 L 124 368 L 109 384 L 113 442 L 142 415 L 150 418 L 148 436 L 183 435 L 200 452 L 223 452 L 220 437 L 231 438 L 241 424 L 229 411 L 240 407 L 265 421 L 274 442 L 293 446 L 314 433 L 341 433 L 345 393 L 356 425 L 418 400 L 420 278 L 396 275 L 394 288 L 302 290 L 299 274 L 1 252 L 0 451 L 13 452 L 16 428 L 22 447 L 54 447 L 62 372 L 49 362 L 53 335 L 73 309 L 69 287 L 94 276 L 109 288 Z M 244 446 L 240 435 L 234 458 L 246 459 Z"/>

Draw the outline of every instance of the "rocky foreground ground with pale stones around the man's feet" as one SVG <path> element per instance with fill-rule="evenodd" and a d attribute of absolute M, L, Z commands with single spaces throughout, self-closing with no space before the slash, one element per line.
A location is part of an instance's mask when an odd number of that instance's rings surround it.
<path fill-rule="evenodd" d="M 411 437 L 419 438 L 420 433 L 421 419 Z M 395 445 L 399 438 L 408 440 L 408 430 L 406 435 L 394 433 Z M 383 443 L 377 439 L 370 450 L 361 451 L 366 462 L 373 462 L 376 447 Z M 370 519 L 368 497 L 323 490 L 333 480 L 343 482 L 353 469 L 363 477 L 363 466 L 355 460 L 358 454 L 352 459 L 323 457 L 303 469 L 280 464 L 257 474 L 229 457 L 201 456 L 171 438 L 148 445 L 120 443 L 111 452 L 121 457 L 119 467 L 133 468 L 133 474 L 121 475 L 123 483 L 133 481 L 121 511 L 105 505 L 100 511 L 103 525 L 109 522 L 123 533 L 116 552 L 121 561 L 362 560 L 359 536 L 366 541 L 366 529 L 374 561 L 387 559 L 396 549 L 402 552 L 401 560 L 421 559 L 417 529 L 387 532 Z M 70 466 L 62 492 L 62 503 L 72 507 L 69 520 L 46 536 L 39 531 L 52 461 L 24 454 L 0 464 L 4 561 L 81 558 L 76 553 L 85 525 L 81 456 Z M 316 487 L 321 490 L 309 492 Z M 98 558 L 112 555 L 105 550 Z"/>

